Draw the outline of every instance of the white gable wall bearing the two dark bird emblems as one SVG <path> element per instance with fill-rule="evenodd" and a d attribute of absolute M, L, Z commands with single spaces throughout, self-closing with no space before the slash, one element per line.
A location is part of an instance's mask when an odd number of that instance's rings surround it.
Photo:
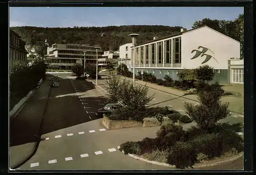
<path fill-rule="evenodd" d="M 202 56 L 202 54 L 195 59 L 191 59 L 196 54 L 196 51 L 193 53 L 191 51 L 194 49 L 202 51 L 203 48 L 198 48 L 199 46 L 210 49 L 210 51 L 208 50 L 204 54 L 214 57 L 218 62 L 211 58 L 208 62 L 202 64 L 206 59 L 206 56 Z M 230 58 L 240 58 L 240 42 L 208 27 L 199 28 L 182 34 L 181 58 L 182 68 L 190 69 L 201 65 L 210 65 L 215 69 L 227 69 L 227 60 Z"/>

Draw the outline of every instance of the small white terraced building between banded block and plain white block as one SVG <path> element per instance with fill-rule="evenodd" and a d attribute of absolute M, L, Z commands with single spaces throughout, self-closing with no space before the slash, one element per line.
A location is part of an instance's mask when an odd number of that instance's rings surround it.
<path fill-rule="evenodd" d="M 105 51 L 98 59 L 99 66 L 106 66 L 107 64 L 117 64 L 119 58 L 119 51 Z"/>

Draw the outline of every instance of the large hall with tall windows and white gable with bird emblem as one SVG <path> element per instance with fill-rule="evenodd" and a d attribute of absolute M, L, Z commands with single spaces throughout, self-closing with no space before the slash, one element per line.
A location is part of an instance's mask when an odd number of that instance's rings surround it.
<path fill-rule="evenodd" d="M 204 26 L 137 44 L 131 51 L 132 68 L 134 51 L 136 73 L 144 71 L 157 78 L 167 75 L 178 80 L 181 69 L 209 65 L 216 72 L 214 81 L 230 83 L 228 60 L 240 58 L 240 42 Z"/>

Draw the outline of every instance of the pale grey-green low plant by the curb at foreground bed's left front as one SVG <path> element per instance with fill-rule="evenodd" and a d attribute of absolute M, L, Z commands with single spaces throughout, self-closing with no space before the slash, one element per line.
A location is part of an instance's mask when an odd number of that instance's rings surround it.
<path fill-rule="evenodd" d="M 164 150 L 153 150 L 151 153 L 145 153 L 142 156 L 150 161 L 157 161 L 162 163 L 167 163 L 167 157 L 170 153 L 170 149 L 164 149 Z"/>

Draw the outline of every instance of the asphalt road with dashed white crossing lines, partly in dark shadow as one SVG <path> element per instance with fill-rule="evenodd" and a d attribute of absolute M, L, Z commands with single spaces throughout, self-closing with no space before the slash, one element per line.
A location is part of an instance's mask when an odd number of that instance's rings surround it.
<path fill-rule="evenodd" d="M 108 131 L 94 112 L 104 105 L 104 91 L 70 74 L 55 74 L 60 86 L 52 88 L 36 154 L 20 170 L 169 169 L 137 161 L 118 151 L 128 140 L 141 140 L 140 129 Z M 156 129 L 148 128 L 155 136 Z M 147 133 L 148 133 L 147 132 Z"/>

